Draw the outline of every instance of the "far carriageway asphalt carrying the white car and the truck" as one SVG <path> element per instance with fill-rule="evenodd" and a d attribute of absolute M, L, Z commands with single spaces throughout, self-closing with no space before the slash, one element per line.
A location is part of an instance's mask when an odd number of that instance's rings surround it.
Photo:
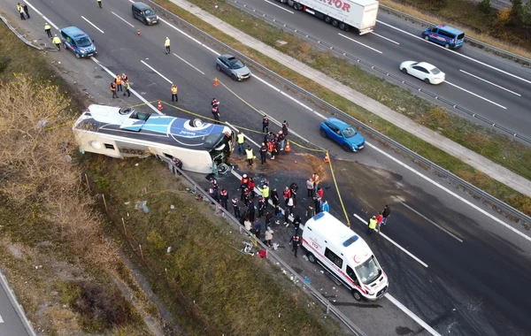
<path fill-rule="evenodd" d="M 235 4 L 232 0 L 228 3 Z M 274 0 L 238 0 L 238 3 L 238 8 L 243 8 L 240 4 L 247 4 L 249 7 L 244 8 L 246 11 L 251 11 L 252 8 L 264 12 L 319 41 L 327 42 L 531 139 L 528 109 L 531 103 L 531 96 L 528 94 L 531 89 L 531 70 L 511 60 L 496 57 L 467 44 L 458 50 L 444 50 L 420 37 L 424 30 L 422 27 L 383 11 L 378 13 L 373 34 L 359 36 L 353 30 L 343 32 L 309 13 L 294 11 L 289 5 Z M 446 82 L 430 85 L 401 73 L 398 65 L 405 60 L 424 61 L 437 66 L 446 73 Z M 366 70 L 370 71 L 369 68 Z M 398 82 L 396 84 L 402 85 Z M 437 102 L 427 95 L 421 96 L 449 108 L 447 104 Z M 467 116 L 463 112 L 457 112 Z M 486 126 L 479 120 L 477 122 Z"/>

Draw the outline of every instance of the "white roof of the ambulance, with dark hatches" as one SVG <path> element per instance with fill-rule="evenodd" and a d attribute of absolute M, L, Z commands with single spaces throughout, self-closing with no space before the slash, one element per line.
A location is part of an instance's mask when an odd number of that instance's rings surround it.
<path fill-rule="evenodd" d="M 304 229 L 307 227 L 310 227 L 314 234 L 326 237 L 327 244 L 334 248 L 336 253 L 352 258 L 355 264 L 363 263 L 373 255 L 363 238 L 328 212 L 319 212 L 309 219 Z"/>

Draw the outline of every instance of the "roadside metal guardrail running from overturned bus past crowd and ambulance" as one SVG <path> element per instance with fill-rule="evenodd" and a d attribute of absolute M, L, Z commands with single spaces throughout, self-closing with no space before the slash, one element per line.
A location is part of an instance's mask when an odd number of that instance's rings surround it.
<path fill-rule="evenodd" d="M 248 235 L 249 237 L 252 237 L 252 233 L 250 233 L 249 231 L 247 231 L 245 229 L 245 227 L 243 227 L 242 225 L 240 225 L 240 222 L 238 219 L 236 219 L 228 210 L 225 210 L 225 208 L 223 208 L 219 202 L 216 202 L 212 197 L 211 195 L 209 195 L 202 187 L 200 187 L 196 181 L 192 178 L 189 177 L 189 175 L 186 174 L 186 172 L 183 172 L 181 171 L 181 169 L 177 168 L 175 166 L 175 164 L 173 164 L 173 161 L 170 160 L 169 158 L 167 157 L 160 157 L 160 156 L 157 156 L 158 159 L 162 162 L 165 162 L 167 165 L 168 165 L 168 169 L 173 172 L 174 175 L 177 175 L 177 174 L 180 174 L 181 177 L 187 179 L 189 181 L 189 183 L 194 187 L 194 192 L 197 194 L 201 194 L 204 199 L 207 199 L 209 200 L 209 202 L 212 202 L 213 204 L 215 204 L 215 206 L 217 207 L 218 210 L 221 210 L 223 212 L 223 217 L 224 218 L 227 218 L 227 222 L 230 223 L 231 225 L 235 226 L 235 228 L 237 228 L 239 230 L 240 233 L 242 234 L 246 234 Z M 329 302 L 327 300 L 327 298 L 325 298 L 322 294 L 319 293 L 319 291 L 317 289 L 315 289 L 312 285 L 308 284 L 303 277 L 301 277 L 300 275 L 298 275 L 296 273 L 296 271 L 294 271 L 288 263 L 284 262 L 280 256 L 277 256 L 276 253 L 274 253 L 274 251 L 271 249 L 271 248 L 267 248 L 266 247 L 266 244 L 264 244 L 262 241 L 260 241 L 259 239 L 256 240 L 258 246 L 261 248 L 261 249 L 264 249 L 267 251 L 267 255 L 266 257 L 269 258 L 269 259 L 273 259 L 274 262 L 276 262 L 277 265 L 280 265 L 281 269 L 283 271 L 286 271 L 286 275 L 289 276 L 290 280 L 293 281 L 293 283 L 300 287 L 301 289 L 303 289 L 306 293 L 308 294 L 312 294 L 312 297 L 314 297 L 315 299 L 317 299 L 323 306 L 324 308 L 327 309 L 327 314 L 328 313 L 333 313 L 335 315 L 335 317 L 337 317 L 341 322 L 342 324 L 344 324 L 347 328 L 349 328 L 349 330 L 351 332 L 353 332 L 355 335 L 357 336 L 366 336 L 366 333 L 363 332 L 359 327 L 358 325 L 355 325 L 352 321 L 350 321 L 349 317 L 346 317 L 344 316 L 344 314 L 337 308 L 335 308 L 335 306 Z M 274 264 L 274 263 L 273 263 Z"/>

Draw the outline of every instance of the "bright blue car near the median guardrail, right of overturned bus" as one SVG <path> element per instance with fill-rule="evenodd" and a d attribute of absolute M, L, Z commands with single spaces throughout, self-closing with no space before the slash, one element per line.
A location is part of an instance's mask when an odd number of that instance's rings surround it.
<path fill-rule="evenodd" d="M 323 138 L 330 138 L 339 143 L 342 149 L 357 152 L 365 147 L 365 138 L 349 124 L 338 118 L 327 118 L 320 126 Z"/>

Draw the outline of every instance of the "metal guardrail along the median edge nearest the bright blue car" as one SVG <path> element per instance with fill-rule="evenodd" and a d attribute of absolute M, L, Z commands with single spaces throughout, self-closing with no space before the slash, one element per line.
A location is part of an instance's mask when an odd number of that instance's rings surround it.
<path fill-rule="evenodd" d="M 476 195 L 477 197 L 481 198 L 484 202 L 489 202 L 492 206 L 495 206 L 498 210 L 503 210 L 504 213 L 511 217 L 512 220 L 514 220 L 517 223 L 521 223 L 522 225 L 531 225 L 531 217 L 527 216 L 526 214 L 520 212 L 519 210 L 514 209 L 511 205 L 502 202 L 498 200 L 496 197 L 487 194 L 483 190 L 481 190 L 479 187 L 473 186 L 471 183 L 467 182 L 465 179 L 459 178 L 457 175 L 453 174 L 452 172 L 447 171 L 443 167 L 434 164 L 433 162 L 427 160 L 427 158 L 420 156 L 416 152 L 412 151 L 411 149 L 406 148 L 404 145 L 392 140 L 387 135 L 381 134 L 380 132 L 374 130 L 370 126 L 367 126 L 366 124 L 362 123 L 356 118 L 352 118 L 349 114 L 339 110 L 334 105 L 325 102 L 324 100 L 320 99 L 318 96 L 313 95 L 311 92 L 306 91 L 304 88 L 298 87 L 295 83 L 284 79 L 279 75 L 278 73 L 274 73 L 273 71 L 267 69 L 264 65 L 260 65 L 258 62 L 255 62 L 250 57 L 247 57 L 240 53 L 237 50 L 234 50 L 227 44 L 220 42 L 218 39 L 214 38 L 212 35 L 205 33 L 201 29 L 191 25 L 189 22 L 187 22 L 184 19 L 181 19 L 179 16 L 173 14 L 171 11 L 165 10 L 165 8 L 161 7 L 160 5 L 152 2 L 151 0 L 148 0 L 150 4 L 154 5 L 158 8 L 159 11 L 165 12 L 165 14 L 175 19 L 178 24 L 181 24 L 183 27 L 188 27 L 191 31 L 196 32 L 196 34 L 199 34 L 204 37 L 204 39 L 208 40 L 209 42 L 212 42 L 219 46 L 219 48 L 223 50 L 227 50 L 231 53 L 233 53 L 237 57 L 241 57 L 245 62 L 247 62 L 248 65 L 252 65 L 255 68 L 259 69 L 260 71 L 266 73 L 268 76 L 272 77 L 275 80 L 278 80 L 283 85 L 286 85 L 287 87 L 293 89 L 296 92 L 299 92 L 302 95 L 305 95 L 309 100 L 312 101 L 312 103 L 316 103 L 317 105 L 324 106 L 327 110 L 332 111 L 338 115 L 341 115 L 343 118 L 349 119 L 352 123 L 356 124 L 358 127 L 363 128 L 368 134 L 371 134 L 373 138 L 377 139 L 378 141 L 385 142 L 394 148 L 402 151 L 404 154 L 408 155 L 409 157 L 412 157 L 417 162 L 426 165 L 427 167 L 430 167 L 433 169 L 437 174 L 440 174 L 447 179 L 449 179 L 452 183 L 457 184 L 460 187 L 465 188 L 473 195 Z M 322 43 L 321 43 L 322 44 Z M 331 47 L 334 48 L 334 47 Z"/>

